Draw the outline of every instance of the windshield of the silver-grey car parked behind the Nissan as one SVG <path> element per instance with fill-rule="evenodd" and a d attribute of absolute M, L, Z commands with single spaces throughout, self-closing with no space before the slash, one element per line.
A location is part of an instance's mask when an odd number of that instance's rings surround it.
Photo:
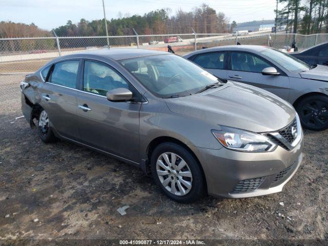
<path fill-rule="evenodd" d="M 310 70 L 310 66 L 295 57 L 275 49 L 264 49 L 261 52 L 268 58 L 273 59 L 277 64 L 288 69 L 291 72 L 304 72 Z"/>

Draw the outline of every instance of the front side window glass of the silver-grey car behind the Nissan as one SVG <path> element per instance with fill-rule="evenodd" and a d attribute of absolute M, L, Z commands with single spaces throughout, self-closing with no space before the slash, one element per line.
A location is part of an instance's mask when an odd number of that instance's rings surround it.
<path fill-rule="evenodd" d="M 231 69 L 244 72 L 260 73 L 264 68 L 272 67 L 267 61 L 243 52 L 231 53 Z"/>

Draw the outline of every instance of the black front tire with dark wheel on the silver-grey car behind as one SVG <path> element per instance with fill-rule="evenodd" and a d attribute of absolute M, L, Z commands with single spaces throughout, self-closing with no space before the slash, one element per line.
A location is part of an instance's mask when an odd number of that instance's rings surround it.
<path fill-rule="evenodd" d="M 313 95 L 302 99 L 296 106 L 303 128 L 322 131 L 328 128 L 328 97 Z"/>

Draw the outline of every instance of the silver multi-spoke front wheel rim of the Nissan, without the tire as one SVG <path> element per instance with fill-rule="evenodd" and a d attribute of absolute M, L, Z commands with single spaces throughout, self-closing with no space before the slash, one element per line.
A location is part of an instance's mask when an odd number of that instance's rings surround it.
<path fill-rule="evenodd" d="M 156 161 L 156 171 L 162 186 L 177 196 L 188 194 L 193 176 L 188 163 L 177 154 L 165 152 Z"/>

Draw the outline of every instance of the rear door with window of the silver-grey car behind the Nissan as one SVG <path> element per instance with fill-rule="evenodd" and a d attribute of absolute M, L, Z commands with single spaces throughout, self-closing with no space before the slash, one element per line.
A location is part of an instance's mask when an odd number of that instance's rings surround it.
<path fill-rule="evenodd" d="M 202 53 L 194 57 L 193 61 L 209 73 L 227 78 L 227 52 Z"/>

